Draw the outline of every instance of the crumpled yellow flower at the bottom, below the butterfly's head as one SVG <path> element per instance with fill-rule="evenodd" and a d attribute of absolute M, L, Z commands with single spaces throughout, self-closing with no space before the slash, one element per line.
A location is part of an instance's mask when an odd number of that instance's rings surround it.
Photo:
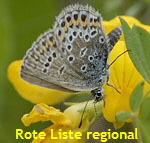
<path fill-rule="evenodd" d="M 85 103 L 78 103 L 67 108 L 64 113 L 60 112 L 60 110 L 55 109 L 53 107 L 49 107 L 46 104 L 37 104 L 34 106 L 32 111 L 29 114 L 25 114 L 22 117 L 22 122 L 25 126 L 29 126 L 32 123 L 39 121 L 51 121 L 53 125 L 46 128 L 43 132 L 46 134 L 45 139 L 34 139 L 32 143 L 84 143 L 86 139 L 86 132 L 88 131 L 91 124 L 95 121 L 95 113 L 93 107 L 93 101 L 90 101 L 89 106 L 83 116 L 82 126 L 78 128 L 81 114 Z M 91 107 L 92 106 L 92 107 Z M 100 111 L 102 104 L 97 104 L 97 108 Z M 102 113 L 102 112 L 101 112 Z M 71 132 L 71 138 L 68 136 L 67 138 L 59 137 L 59 133 L 69 133 Z M 79 134 L 80 137 L 74 137 L 75 134 Z M 55 139 L 54 139 L 55 137 Z M 56 139 L 58 138 L 58 139 Z"/>

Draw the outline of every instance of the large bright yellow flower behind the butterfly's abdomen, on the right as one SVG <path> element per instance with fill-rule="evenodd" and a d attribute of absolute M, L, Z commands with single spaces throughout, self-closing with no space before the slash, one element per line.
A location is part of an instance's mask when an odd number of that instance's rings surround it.
<path fill-rule="evenodd" d="M 143 27 L 150 32 L 150 26 L 141 24 L 138 20 L 132 17 L 122 16 L 122 18 L 129 24 L 130 27 L 136 24 Z M 111 21 L 104 22 L 106 31 L 111 31 L 115 27 L 120 26 L 119 18 L 114 18 Z M 109 63 L 111 63 L 119 54 L 126 51 L 124 38 L 121 38 L 116 46 L 113 48 Z M 131 112 L 129 106 L 130 96 L 135 86 L 143 81 L 143 77 L 134 67 L 132 61 L 129 58 L 128 53 L 122 55 L 111 67 L 110 67 L 110 80 L 109 83 L 115 86 L 121 93 L 119 94 L 112 87 L 107 85 L 105 89 L 105 107 L 103 107 L 103 115 L 107 121 L 112 122 L 115 128 L 120 128 L 124 122 L 118 122 L 116 120 L 116 114 L 120 111 Z M 144 81 L 144 94 L 150 90 L 150 86 Z M 126 120 L 131 122 L 131 120 Z"/>

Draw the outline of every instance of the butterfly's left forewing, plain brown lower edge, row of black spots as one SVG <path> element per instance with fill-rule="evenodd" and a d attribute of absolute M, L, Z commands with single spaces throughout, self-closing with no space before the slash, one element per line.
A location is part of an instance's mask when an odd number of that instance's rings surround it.
<path fill-rule="evenodd" d="M 59 53 L 58 46 L 60 45 L 53 30 L 41 35 L 27 51 L 20 75 L 35 85 L 73 92 L 61 85 L 72 83 L 72 80 L 79 77 L 72 69 L 66 69 L 67 65 Z"/>

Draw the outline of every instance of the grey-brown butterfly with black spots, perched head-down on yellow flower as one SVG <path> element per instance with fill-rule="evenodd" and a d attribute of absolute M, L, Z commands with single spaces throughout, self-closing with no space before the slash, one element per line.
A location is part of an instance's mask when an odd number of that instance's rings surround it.
<path fill-rule="evenodd" d="M 102 17 L 90 6 L 66 7 L 53 29 L 42 34 L 27 51 L 21 77 L 32 84 L 65 92 L 91 91 L 95 103 L 103 99 L 108 82 L 108 56 L 122 34 L 107 36 Z"/>

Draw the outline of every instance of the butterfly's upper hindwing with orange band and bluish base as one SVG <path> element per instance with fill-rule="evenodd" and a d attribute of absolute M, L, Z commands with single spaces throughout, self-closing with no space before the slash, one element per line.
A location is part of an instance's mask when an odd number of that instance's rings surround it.
<path fill-rule="evenodd" d="M 54 29 L 63 45 L 64 60 L 84 80 L 84 85 L 79 83 L 80 90 L 100 86 L 108 58 L 101 15 L 89 6 L 69 6 L 57 17 Z"/>

